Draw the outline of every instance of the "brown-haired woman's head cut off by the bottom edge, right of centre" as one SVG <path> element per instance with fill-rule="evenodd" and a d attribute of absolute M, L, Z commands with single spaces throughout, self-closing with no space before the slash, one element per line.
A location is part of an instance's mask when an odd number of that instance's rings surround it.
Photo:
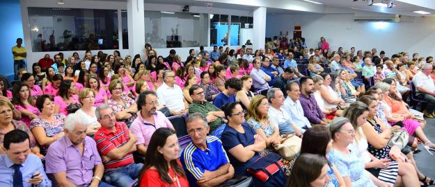
<path fill-rule="evenodd" d="M 301 154 L 296 159 L 286 187 L 330 186 L 328 162 L 318 154 Z"/>

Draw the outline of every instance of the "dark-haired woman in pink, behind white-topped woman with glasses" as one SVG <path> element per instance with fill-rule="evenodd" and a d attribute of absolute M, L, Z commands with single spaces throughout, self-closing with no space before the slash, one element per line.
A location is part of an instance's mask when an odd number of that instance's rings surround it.
<path fill-rule="evenodd" d="M 72 80 L 63 80 L 59 87 L 58 96 L 54 97 L 54 114 L 68 115 L 66 108 L 74 103 L 79 103 L 79 96 L 76 94 L 76 87 Z"/>

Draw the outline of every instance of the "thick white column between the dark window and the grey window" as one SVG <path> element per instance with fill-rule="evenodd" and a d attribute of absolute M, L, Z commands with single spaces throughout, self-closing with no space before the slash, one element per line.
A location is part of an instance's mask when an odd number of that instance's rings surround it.
<path fill-rule="evenodd" d="M 134 56 L 145 53 L 145 17 L 143 0 L 127 0 L 128 48 Z M 121 45 L 121 44 L 120 44 Z"/>

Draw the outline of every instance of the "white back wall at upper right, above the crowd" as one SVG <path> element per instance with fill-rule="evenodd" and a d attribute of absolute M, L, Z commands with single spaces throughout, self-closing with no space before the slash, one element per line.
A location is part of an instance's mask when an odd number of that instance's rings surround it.
<path fill-rule="evenodd" d="M 414 22 L 400 23 L 359 23 L 353 18 L 354 14 L 267 15 L 266 36 L 287 30 L 292 33 L 294 25 L 300 25 L 309 48 L 316 47 L 324 36 L 334 51 L 340 46 L 345 51 L 355 46 L 363 51 L 376 47 L 378 52 L 386 51 L 387 56 L 400 51 L 418 52 L 420 56 L 435 54 L 435 17 L 416 17 Z"/>

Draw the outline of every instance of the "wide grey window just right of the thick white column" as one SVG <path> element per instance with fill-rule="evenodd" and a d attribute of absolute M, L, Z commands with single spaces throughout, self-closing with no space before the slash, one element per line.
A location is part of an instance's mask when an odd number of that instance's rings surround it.
<path fill-rule="evenodd" d="M 154 48 L 207 45 L 208 15 L 145 11 L 145 43 Z"/>

